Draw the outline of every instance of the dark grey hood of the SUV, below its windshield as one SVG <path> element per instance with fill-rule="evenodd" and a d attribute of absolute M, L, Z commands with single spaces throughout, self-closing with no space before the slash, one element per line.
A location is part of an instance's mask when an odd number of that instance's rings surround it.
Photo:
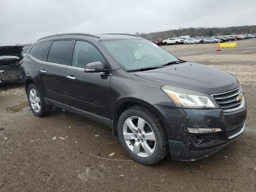
<path fill-rule="evenodd" d="M 136 76 L 206 94 L 217 94 L 238 87 L 236 77 L 222 70 L 184 62 L 155 70 L 135 72 Z"/>

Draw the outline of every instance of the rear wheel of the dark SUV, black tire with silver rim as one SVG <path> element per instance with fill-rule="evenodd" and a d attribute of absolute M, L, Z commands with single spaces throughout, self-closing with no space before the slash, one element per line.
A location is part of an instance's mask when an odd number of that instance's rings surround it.
<path fill-rule="evenodd" d="M 52 111 L 52 106 L 46 104 L 42 93 L 35 84 L 28 86 L 27 98 L 30 109 L 36 116 L 46 116 Z"/>

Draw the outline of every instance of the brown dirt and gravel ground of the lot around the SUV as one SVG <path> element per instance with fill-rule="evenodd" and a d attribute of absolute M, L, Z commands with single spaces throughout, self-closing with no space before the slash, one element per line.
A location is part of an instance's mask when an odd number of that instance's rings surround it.
<path fill-rule="evenodd" d="M 242 136 L 195 162 L 167 157 L 155 166 L 138 164 L 110 128 L 56 108 L 36 117 L 21 84 L 0 85 L 0 192 L 255 192 L 256 38 L 236 42 L 238 48 L 220 52 L 217 44 L 163 46 L 183 60 L 238 76 L 246 94 Z"/>

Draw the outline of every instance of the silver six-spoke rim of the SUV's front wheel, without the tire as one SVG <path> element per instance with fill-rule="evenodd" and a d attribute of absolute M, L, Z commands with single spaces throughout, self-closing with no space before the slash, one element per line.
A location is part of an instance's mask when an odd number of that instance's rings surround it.
<path fill-rule="evenodd" d="M 156 149 L 156 137 L 149 124 L 142 118 L 132 116 L 123 126 L 123 137 L 128 148 L 140 157 L 151 156 Z"/>

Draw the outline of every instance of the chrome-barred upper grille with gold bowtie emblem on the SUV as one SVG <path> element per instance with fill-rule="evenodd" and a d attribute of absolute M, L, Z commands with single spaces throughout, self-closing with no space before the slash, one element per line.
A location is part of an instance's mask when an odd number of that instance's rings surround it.
<path fill-rule="evenodd" d="M 244 100 L 241 86 L 224 93 L 213 94 L 212 96 L 224 112 L 239 108 Z"/>

